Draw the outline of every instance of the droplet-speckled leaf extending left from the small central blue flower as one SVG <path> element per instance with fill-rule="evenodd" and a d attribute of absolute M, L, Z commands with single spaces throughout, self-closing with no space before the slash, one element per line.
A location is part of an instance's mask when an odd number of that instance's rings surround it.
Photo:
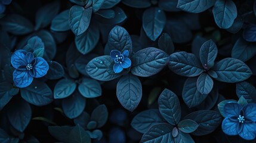
<path fill-rule="evenodd" d="M 87 74 L 93 79 L 101 81 L 109 81 L 118 78 L 120 74 L 109 74 L 107 69 L 112 63 L 110 55 L 103 55 L 92 59 L 86 68 Z"/>

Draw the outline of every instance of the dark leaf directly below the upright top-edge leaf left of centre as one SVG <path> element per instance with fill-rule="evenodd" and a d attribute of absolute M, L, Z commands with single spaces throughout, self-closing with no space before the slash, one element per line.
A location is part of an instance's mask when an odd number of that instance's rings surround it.
<path fill-rule="evenodd" d="M 88 54 L 88 52 L 92 51 L 98 43 L 100 39 L 100 31 L 97 27 L 91 26 L 88 28 L 86 32 L 82 35 L 76 36 L 75 44 L 76 48 L 82 54 Z"/>

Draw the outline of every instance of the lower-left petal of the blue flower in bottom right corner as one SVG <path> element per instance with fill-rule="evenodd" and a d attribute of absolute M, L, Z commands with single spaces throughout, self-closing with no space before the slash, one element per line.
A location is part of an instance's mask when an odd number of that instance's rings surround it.
<path fill-rule="evenodd" d="M 238 122 L 233 122 L 227 117 L 223 120 L 221 128 L 227 135 L 238 135 L 238 125 Z"/>

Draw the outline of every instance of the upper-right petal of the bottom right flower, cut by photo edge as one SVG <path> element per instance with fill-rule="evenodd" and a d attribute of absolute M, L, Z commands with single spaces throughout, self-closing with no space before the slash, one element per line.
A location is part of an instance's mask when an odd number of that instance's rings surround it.
<path fill-rule="evenodd" d="M 243 111 L 245 113 L 245 119 L 250 119 L 256 122 L 256 104 L 249 103 L 243 107 Z"/>

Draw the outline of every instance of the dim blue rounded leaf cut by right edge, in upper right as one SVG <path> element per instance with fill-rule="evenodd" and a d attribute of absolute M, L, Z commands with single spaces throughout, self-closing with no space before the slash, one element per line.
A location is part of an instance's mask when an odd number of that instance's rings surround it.
<path fill-rule="evenodd" d="M 248 42 L 256 42 L 256 25 L 249 24 L 243 30 L 243 39 Z"/>

